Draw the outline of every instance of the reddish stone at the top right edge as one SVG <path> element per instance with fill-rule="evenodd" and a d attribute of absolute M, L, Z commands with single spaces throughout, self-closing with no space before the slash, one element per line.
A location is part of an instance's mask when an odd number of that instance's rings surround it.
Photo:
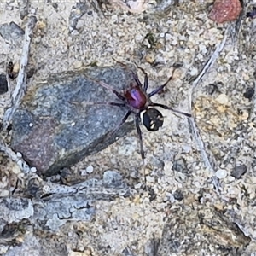
<path fill-rule="evenodd" d="M 208 17 L 218 23 L 224 23 L 226 21 L 236 20 L 241 10 L 239 0 L 216 0 Z"/>

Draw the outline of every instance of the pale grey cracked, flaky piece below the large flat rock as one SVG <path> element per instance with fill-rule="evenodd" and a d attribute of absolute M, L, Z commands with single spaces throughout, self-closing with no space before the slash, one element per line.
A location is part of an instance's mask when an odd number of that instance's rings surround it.
<path fill-rule="evenodd" d="M 35 179 L 32 177 L 34 188 Z M 115 171 L 105 172 L 102 180 L 90 179 L 73 186 L 41 182 L 32 199 L 0 200 L 0 244 L 13 241 L 21 225 L 25 230 L 33 224 L 38 230 L 58 231 L 68 221 L 88 222 L 96 214 L 96 201 L 112 201 L 133 193 Z"/>

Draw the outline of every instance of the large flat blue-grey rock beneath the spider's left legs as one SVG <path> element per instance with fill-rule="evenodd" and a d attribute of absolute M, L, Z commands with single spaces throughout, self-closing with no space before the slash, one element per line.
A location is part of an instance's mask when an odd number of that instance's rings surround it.
<path fill-rule="evenodd" d="M 53 74 L 32 87 L 15 112 L 11 147 L 45 176 L 108 147 L 134 127 L 128 122 L 115 136 L 109 136 L 126 109 L 86 105 L 119 102 L 112 91 L 89 78 L 102 80 L 116 90 L 129 87 L 133 79 L 131 70 L 120 66 Z"/>

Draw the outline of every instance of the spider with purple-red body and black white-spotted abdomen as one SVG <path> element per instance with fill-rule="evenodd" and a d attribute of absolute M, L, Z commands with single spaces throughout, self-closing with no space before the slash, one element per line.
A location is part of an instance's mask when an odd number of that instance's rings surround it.
<path fill-rule="evenodd" d="M 123 66 L 125 66 L 123 64 Z M 148 90 L 148 74 L 145 72 L 145 70 L 142 67 L 139 67 L 139 69 L 144 74 L 144 83 L 142 84 L 140 80 L 137 77 L 137 74 L 132 72 L 134 83 L 131 84 L 130 88 L 125 90 L 124 92 L 119 92 L 115 89 L 113 89 L 112 86 L 109 84 L 106 84 L 102 81 L 98 81 L 93 79 L 97 84 L 100 84 L 102 87 L 106 88 L 107 90 L 111 90 L 113 94 L 115 94 L 119 102 L 87 102 L 87 104 L 90 105 L 111 105 L 111 106 L 117 106 L 120 108 L 126 108 L 127 112 L 125 113 L 125 116 L 121 119 L 119 122 L 119 125 L 116 126 L 113 131 L 111 131 L 111 135 L 113 135 L 115 132 L 119 130 L 119 128 L 125 124 L 125 121 L 128 119 L 128 117 L 131 115 L 131 113 L 134 114 L 134 120 L 135 125 L 137 129 L 137 135 L 139 138 L 140 143 L 140 153 L 142 156 L 142 159 L 145 159 L 145 152 L 143 149 L 143 136 L 142 131 L 140 128 L 140 122 L 141 122 L 141 113 L 143 113 L 143 125 L 147 128 L 148 131 L 158 131 L 160 127 L 164 123 L 164 117 L 160 113 L 159 110 L 157 110 L 154 107 L 164 108 L 168 110 L 172 110 L 172 112 L 175 113 L 181 113 L 186 117 L 191 117 L 191 114 L 184 113 L 182 111 L 179 111 L 177 109 L 168 107 L 166 105 L 155 103 L 151 101 L 151 97 L 160 93 L 166 85 L 172 80 L 173 73 L 175 72 L 177 67 L 174 67 L 172 70 L 171 77 L 166 81 L 165 84 L 160 85 L 155 90 L 152 90 L 151 92 L 147 93 Z"/>

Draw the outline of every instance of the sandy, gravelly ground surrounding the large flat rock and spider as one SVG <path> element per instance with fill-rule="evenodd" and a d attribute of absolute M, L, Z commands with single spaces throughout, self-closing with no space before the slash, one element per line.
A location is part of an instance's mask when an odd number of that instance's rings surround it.
<path fill-rule="evenodd" d="M 255 1 L 224 24 L 208 19 L 212 1 L 126 2 L 130 8 L 117 0 L 1 2 L 2 75 L 20 61 L 27 15 L 38 19 L 27 94 L 49 75 L 115 60 L 143 67 L 154 90 L 183 64 L 152 99 L 184 112 L 191 103 L 209 161 L 188 119 L 168 110 L 160 131 L 141 125 L 144 162 L 135 129 L 51 177 L 24 173 L 0 154 L 0 254 L 255 255 L 256 20 L 245 15 Z M 10 92 L 0 100 L 3 117 Z M 11 127 L 2 136 L 10 145 Z"/>

